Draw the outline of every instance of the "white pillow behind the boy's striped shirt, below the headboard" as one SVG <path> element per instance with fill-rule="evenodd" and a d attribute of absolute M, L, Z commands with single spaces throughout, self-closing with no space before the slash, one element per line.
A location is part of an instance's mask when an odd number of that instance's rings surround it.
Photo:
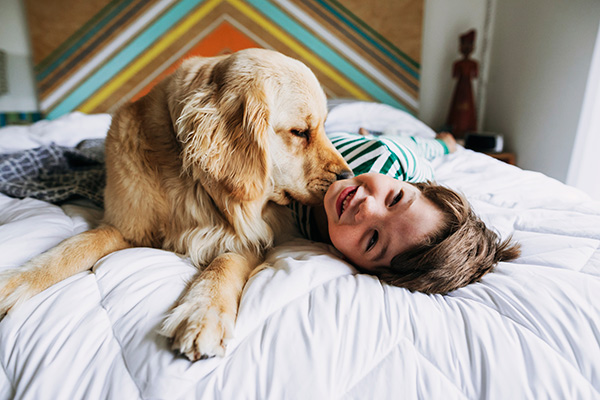
<path fill-rule="evenodd" d="M 365 101 L 330 101 L 331 110 L 325 130 L 358 133 L 358 128 L 381 132 L 384 135 L 434 138 L 433 129 L 406 111 L 382 103 Z"/>

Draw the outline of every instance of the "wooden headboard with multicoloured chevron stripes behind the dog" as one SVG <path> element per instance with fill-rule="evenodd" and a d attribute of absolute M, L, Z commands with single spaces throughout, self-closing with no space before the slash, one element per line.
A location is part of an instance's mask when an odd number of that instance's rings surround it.
<path fill-rule="evenodd" d="M 330 98 L 416 112 L 423 0 L 26 0 L 41 111 L 111 112 L 184 58 L 302 60 Z"/>

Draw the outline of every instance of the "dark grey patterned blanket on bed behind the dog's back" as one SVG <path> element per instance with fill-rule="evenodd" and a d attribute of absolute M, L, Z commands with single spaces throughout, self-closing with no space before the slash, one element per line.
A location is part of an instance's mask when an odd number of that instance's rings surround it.
<path fill-rule="evenodd" d="M 102 207 L 104 185 L 103 139 L 0 154 L 0 192 L 12 197 L 55 204 L 83 197 Z"/>

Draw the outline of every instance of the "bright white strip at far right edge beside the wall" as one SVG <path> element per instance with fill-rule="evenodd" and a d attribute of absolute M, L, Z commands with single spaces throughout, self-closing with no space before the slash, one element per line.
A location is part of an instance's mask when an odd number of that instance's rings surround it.
<path fill-rule="evenodd" d="M 567 184 L 600 200 L 600 27 L 567 174 Z"/>

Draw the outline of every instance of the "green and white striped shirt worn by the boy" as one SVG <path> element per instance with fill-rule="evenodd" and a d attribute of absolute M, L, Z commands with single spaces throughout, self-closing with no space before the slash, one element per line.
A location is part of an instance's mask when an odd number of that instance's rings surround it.
<path fill-rule="evenodd" d="M 343 132 L 331 133 L 329 138 L 354 175 L 377 172 L 406 182 L 433 180 L 433 168 L 429 161 L 448 154 L 445 143 L 438 139 L 365 137 Z M 290 208 L 302 236 L 318 240 L 310 223 L 311 208 L 299 203 L 292 203 Z"/>

